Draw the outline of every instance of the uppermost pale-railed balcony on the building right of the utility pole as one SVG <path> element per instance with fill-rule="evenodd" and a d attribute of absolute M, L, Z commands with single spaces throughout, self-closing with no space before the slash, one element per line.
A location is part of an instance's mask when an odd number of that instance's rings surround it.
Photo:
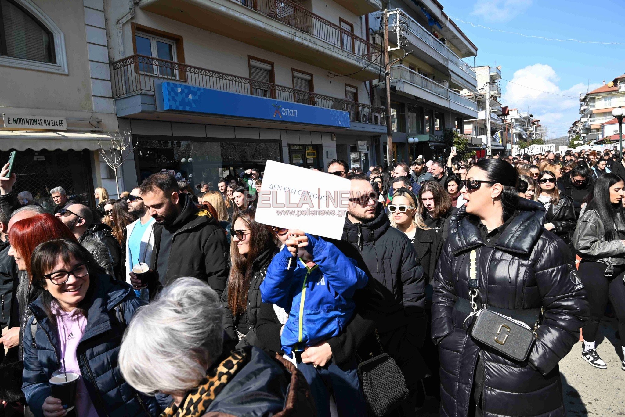
<path fill-rule="evenodd" d="M 436 39 L 434 35 L 429 33 L 426 28 L 417 23 L 401 9 L 395 9 L 401 12 L 400 22 L 405 22 L 407 43 L 403 49 L 412 51 L 417 58 L 426 61 L 428 64 L 443 67 L 451 71 L 452 76 L 459 78 L 466 87 L 477 87 L 476 73 L 469 64 L 460 59 L 451 49 L 444 43 Z M 377 14 L 379 18 L 380 13 Z M 389 16 L 389 25 L 396 24 L 396 14 Z M 391 39 L 392 40 L 392 39 Z M 415 48 L 417 49 L 415 51 Z M 442 71 L 446 73 L 447 71 Z"/>

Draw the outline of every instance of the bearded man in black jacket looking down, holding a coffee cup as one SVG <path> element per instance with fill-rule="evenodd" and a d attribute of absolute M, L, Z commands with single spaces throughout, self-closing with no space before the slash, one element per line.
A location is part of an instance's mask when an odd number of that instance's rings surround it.
<path fill-rule="evenodd" d="M 150 293 L 175 278 L 193 276 L 206 281 L 221 296 L 228 276 L 228 244 L 216 219 L 180 193 L 176 179 L 169 174 L 152 174 L 139 192 L 157 223 L 151 259 L 156 280 Z M 136 284 L 133 276 L 131 281 Z"/>

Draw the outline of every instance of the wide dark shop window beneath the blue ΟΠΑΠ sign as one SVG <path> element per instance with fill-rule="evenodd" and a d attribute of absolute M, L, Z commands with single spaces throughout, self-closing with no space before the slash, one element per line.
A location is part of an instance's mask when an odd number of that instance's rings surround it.
<path fill-rule="evenodd" d="M 216 189 L 219 177 L 234 179 L 246 169 L 262 171 L 267 159 L 282 160 L 278 141 L 189 141 L 143 135 L 138 141 L 140 181 L 165 169 L 187 179 L 192 187 L 203 181 Z"/>

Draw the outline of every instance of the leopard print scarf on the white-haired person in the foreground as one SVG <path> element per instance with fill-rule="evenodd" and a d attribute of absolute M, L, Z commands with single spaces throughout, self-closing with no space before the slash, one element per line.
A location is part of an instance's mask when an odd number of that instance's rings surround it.
<path fill-rule="evenodd" d="M 236 349 L 230 356 L 217 366 L 209 369 L 206 377 L 199 382 L 196 388 L 191 389 L 177 406 L 172 403 L 161 413 L 161 417 L 200 417 L 211 405 L 227 383 L 249 362 L 249 349 Z"/>

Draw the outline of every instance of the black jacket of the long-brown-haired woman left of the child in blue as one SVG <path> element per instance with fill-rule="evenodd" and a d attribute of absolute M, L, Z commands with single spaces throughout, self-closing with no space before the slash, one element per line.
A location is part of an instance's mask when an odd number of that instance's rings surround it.
<path fill-rule="evenodd" d="M 258 323 L 259 311 L 261 309 L 262 297 L 261 297 L 261 284 L 267 274 L 267 266 L 271 262 L 271 259 L 276 253 L 275 248 L 267 249 L 261 253 L 258 258 L 254 259 L 252 263 L 252 279 L 249 282 L 249 289 L 247 290 L 247 309 L 243 314 L 232 314 L 232 310 L 227 307 L 228 304 L 228 287 L 224 289 L 221 294 L 221 301 L 226 306 L 226 318 L 224 324 L 224 330 L 232 338 L 237 340 L 237 332 L 244 334 L 246 337 L 241 340 L 239 347 L 252 346 L 261 347 L 257 342 L 256 336 L 256 324 Z"/>

